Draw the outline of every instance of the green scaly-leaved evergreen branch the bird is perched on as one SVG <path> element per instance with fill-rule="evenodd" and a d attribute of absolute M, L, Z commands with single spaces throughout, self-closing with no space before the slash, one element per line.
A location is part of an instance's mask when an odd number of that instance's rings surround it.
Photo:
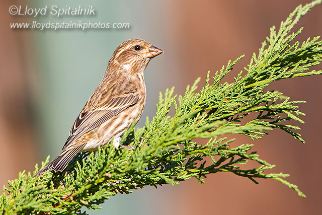
<path fill-rule="evenodd" d="M 121 144 L 133 145 L 135 150 L 117 150 L 111 145 L 92 153 L 78 154 L 65 172 L 47 172 L 43 177 L 32 178 L 22 172 L 19 178 L 9 181 L 0 197 L 3 214 L 85 214 L 82 206 L 100 208 L 110 196 L 130 193 L 144 186 L 179 184 L 195 177 L 203 183 L 208 174 L 231 172 L 257 183 L 257 178 L 271 178 L 305 196 L 296 185 L 284 180 L 287 174 L 266 174 L 274 165 L 252 152 L 253 145 L 231 147 L 234 139 L 226 134 L 244 134 L 252 139 L 266 135 L 266 130 L 279 128 L 304 143 L 288 121 L 303 123 L 297 104 L 277 91 L 265 91 L 270 83 L 281 79 L 320 75 L 322 71 L 309 71 L 321 61 L 322 41 L 308 38 L 302 44 L 294 38 L 302 31 L 291 33 L 299 18 L 313 6 L 314 1 L 299 6 L 281 23 L 276 32 L 262 43 L 259 53 L 254 53 L 247 71 L 235 77 L 233 83 L 223 83 L 223 78 L 235 63 L 244 56 L 229 61 L 212 80 L 210 72 L 205 86 L 196 93 L 197 80 L 187 87 L 184 96 L 177 99 L 174 88 L 160 94 L 156 116 L 146 120 L 145 127 L 132 127 L 123 136 Z M 211 81 L 210 81 L 211 80 Z M 173 117 L 169 116 L 175 108 Z M 255 113 L 250 115 L 250 113 Z M 198 144 L 196 138 L 208 139 Z M 210 158 L 210 159 L 207 159 Z M 206 159 L 208 162 L 206 162 Z M 49 158 L 42 163 L 48 163 Z M 248 169 L 248 162 L 257 168 Z M 36 169 L 34 173 L 38 171 Z"/>

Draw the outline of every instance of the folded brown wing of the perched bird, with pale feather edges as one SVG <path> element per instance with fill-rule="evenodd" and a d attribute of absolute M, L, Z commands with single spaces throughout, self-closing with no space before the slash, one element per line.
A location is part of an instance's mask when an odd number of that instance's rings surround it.
<path fill-rule="evenodd" d="M 69 136 L 62 150 L 66 149 L 74 140 L 85 133 L 93 130 L 111 117 L 116 116 L 126 108 L 134 105 L 138 100 L 138 93 L 131 91 L 122 96 L 114 96 L 105 104 L 100 105 L 93 110 L 86 111 L 84 108 L 71 127 Z"/>

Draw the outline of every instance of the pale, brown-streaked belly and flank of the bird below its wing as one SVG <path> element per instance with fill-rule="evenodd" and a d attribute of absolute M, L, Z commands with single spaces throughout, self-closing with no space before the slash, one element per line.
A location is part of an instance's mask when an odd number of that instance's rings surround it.
<path fill-rule="evenodd" d="M 116 116 L 113 116 L 105 123 L 78 138 L 77 144 L 86 144 L 82 151 L 97 151 L 99 147 L 105 146 L 112 138 L 122 136 L 134 121 L 138 121 L 142 116 L 145 106 L 145 94 L 139 101 L 128 107 Z"/>

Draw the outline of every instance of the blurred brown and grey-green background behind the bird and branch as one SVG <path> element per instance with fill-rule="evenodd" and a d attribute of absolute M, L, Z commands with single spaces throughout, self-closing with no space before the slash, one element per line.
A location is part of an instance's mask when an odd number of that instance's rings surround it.
<path fill-rule="evenodd" d="M 299 4 L 293 1 L 2 1 L 0 7 L 0 185 L 33 171 L 48 155 L 56 157 L 75 117 L 105 72 L 115 48 L 129 38 L 142 38 L 163 49 L 145 70 L 147 103 L 141 121 L 155 113 L 158 92 L 176 86 L 183 94 L 198 77 L 203 85 L 208 70 L 215 72 L 241 54 L 227 80 L 246 66 L 258 52 L 269 28 Z M 40 8 L 96 8 L 94 16 L 12 16 L 10 6 Z M 294 30 L 297 38 L 322 34 L 322 5 L 304 16 Z M 11 29 L 11 22 L 92 21 L 130 23 L 127 29 Z M 315 69 L 321 69 L 317 66 Z M 274 130 L 257 140 L 254 150 L 276 164 L 274 172 L 287 178 L 307 195 L 273 180 L 252 181 L 231 173 L 209 175 L 205 184 L 191 179 L 181 185 L 145 187 L 130 195 L 117 195 L 103 209 L 90 214 L 322 214 L 319 137 L 322 76 L 283 80 L 268 90 L 278 90 L 291 100 L 306 100 L 300 110 L 305 124 L 303 145 L 285 132 Z M 239 136 L 235 144 L 252 143 Z"/>

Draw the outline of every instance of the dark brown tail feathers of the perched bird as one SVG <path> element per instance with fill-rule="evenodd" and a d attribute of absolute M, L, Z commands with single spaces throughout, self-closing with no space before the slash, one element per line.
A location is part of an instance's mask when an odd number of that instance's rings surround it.
<path fill-rule="evenodd" d="M 44 172 L 47 172 L 48 170 L 54 170 L 59 172 L 63 171 L 67 166 L 67 164 L 70 162 L 70 160 L 83 148 L 84 148 L 84 145 L 81 145 L 73 149 L 62 151 L 57 158 L 55 158 L 47 166 L 45 166 L 43 169 L 37 172 L 33 176 L 33 178 L 43 174 Z"/>

